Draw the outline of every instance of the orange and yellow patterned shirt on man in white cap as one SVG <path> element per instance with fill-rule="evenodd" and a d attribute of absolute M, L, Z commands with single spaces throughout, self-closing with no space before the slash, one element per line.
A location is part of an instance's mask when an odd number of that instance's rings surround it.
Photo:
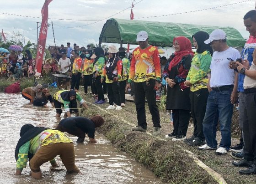
<path fill-rule="evenodd" d="M 134 49 L 128 82 L 132 80 L 134 82 L 144 82 L 149 78 L 160 80 L 161 66 L 158 55 L 159 53 L 155 46 Z"/>

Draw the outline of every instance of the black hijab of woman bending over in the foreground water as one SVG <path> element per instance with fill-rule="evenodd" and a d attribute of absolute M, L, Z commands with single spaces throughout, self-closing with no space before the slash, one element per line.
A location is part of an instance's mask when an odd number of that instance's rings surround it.
<path fill-rule="evenodd" d="M 17 161 L 18 159 L 18 153 L 21 146 L 25 143 L 27 143 L 32 138 L 36 137 L 39 133 L 43 132 L 44 130 L 47 130 L 48 128 L 44 127 L 34 127 L 32 124 L 25 124 L 21 127 L 20 132 L 20 140 L 18 141 L 16 148 L 15 148 L 15 159 Z M 33 154 L 29 153 L 28 158 L 31 159 L 33 157 Z"/>

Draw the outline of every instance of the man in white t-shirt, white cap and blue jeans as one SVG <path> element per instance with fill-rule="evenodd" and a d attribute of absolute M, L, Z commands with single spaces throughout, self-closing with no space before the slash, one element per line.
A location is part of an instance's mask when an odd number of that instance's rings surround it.
<path fill-rule="evenodd" d="M 219 117 L 220 132 L 222 135 L 216 154 L 227 153 L 231 145 L 231 118 L 233 115 L 233 104 L 237 101 L 238 73 L 229 68 L 229 59 L 236 61 L 240 53 L 229 47 L 226 42 L 226 34 L 222 30 L 214 30 L 208 40 L 211 43 L 213 57 L 211 62 L 211 75 L 205 116 L 203 119 L 203 134 L 206 144 L 199 147 L 201 150 L 217 149 L 216 141 L 217 119 Z"/>

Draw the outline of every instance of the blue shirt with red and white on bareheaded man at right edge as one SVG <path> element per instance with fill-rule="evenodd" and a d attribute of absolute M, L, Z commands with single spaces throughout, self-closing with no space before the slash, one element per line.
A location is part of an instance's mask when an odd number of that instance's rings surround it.
<path fill-rule="evenodd" d="M 256 47 L 256 37 L 249 36 L 249 39 L 246 41 L 244 49 L 241 52 L 241 56 L 243 59 L 247 59 L 251 66 L 251 62 L 253 61 L 252 53 Z M 244 92 L 244 79 L 245 75 L 238 74 L 238 91 Z"/>

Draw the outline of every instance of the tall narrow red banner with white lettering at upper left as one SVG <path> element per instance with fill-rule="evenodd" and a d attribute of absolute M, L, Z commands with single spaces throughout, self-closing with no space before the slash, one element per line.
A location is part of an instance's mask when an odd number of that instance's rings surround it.
<path fill-rule="evenodd" d="M 50 2 L 52 2 L 52 0 L 45 0 L 43 4 L 43 8 L 41 10 L 42 23 L 41 23 L 38 44 L 37 44 L 37 60 L 36 60 L 36 67 L 35 67 L 36 77 L 39 77 L 42 72 L 43 54 L 44 54 L 47 30 L 48 30 L 48 5 L 50 4 Z"/>

